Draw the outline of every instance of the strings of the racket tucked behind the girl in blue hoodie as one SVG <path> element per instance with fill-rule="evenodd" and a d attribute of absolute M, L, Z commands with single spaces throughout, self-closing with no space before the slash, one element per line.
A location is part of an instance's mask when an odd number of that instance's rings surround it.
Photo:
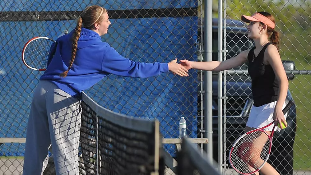
<path fill-rule="evenodd" d="M 50 39 L 36 39 L 30 42 L 25 49 L 25 62 L 30 67 L 46 68 L 53 43 L 55 42 Z"/>

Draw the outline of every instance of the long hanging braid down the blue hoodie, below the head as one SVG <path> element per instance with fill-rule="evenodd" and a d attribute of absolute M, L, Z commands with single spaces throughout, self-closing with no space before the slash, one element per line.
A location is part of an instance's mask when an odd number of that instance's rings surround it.
<path fill-rule="evenodd" d="M 82 27 L 82 18 L 80 17 L 77 21 L 77 26 L 76 26 L 76 31 L 72 35 L 72 50 L 71 50 L 71 60 L 69 62 L 69 66 L 67 71 L 64 71 L 63 73 L 60 74 L 61 77 L 66 77 L 68 74 L 68 71 L 72 67 L 72 64 L 76 58 L 76 53 L 77 53 L 77 48 L 78 48 L 78 39 L 80 37 L 81 33 L 81 27 Z"/>

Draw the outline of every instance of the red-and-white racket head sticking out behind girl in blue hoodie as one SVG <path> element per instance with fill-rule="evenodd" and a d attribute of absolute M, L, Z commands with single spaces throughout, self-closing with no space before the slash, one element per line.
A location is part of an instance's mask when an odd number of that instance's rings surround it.
<path fill-rule="evenodd" d="M 53 39 L 44 36 L 34 37 L 25 44 L 21 58 L 28 68 L 45 71 L 55 48 L 56 41 Z"/>

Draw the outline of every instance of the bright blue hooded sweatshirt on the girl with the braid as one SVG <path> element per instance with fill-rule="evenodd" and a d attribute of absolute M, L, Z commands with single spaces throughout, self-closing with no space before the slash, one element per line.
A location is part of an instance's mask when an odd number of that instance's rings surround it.
<path fill-rule="evenodd" d="M 82 28 L 73 65 L 66 77 L 60 77 L 69 66 L 73 32 L 56 40 L 55 54 L 40 77 L 40 80 L 51 81 L 72 96 L 80 95 L 82 90 L 109 74 L 146 78 L 169 71 L 168 63 L 141 63 L 124 58 L 108 43 L 102 42 L 96 32 Z"/>

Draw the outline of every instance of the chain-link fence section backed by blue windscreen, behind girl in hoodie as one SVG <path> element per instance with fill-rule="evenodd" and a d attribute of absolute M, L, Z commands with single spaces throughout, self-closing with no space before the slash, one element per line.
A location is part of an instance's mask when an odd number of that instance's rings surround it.
<path fill-rule="evenodd" d="M 21 174 L 26 125 L 33 90 L 43 74 L 21 61 L 24 44 L 35 36 L 57 39 L 76 26 L 90 5 L 108 9 L 111 25 L 102 40 L 136 62 L 197 60 L 197 2 L 182 1 L 1 1 L 0 174 Z M 172 73 L 146 79 L 107 76 L 85 90 L 98 104 L 114 112 L 157 118 L 165 138 L 179 137 L 179 119 L 187 116 L 188 135 L 197 137 L 197 72 L 188 77 Z M 21 143 L 10 138 L 22 138 Z M 9 142 L 9 143 L 7 143 Z M 13 143 L 11 143 L 13 142 Z M 164 145 L 169 154 L 176 146 Z"/>

